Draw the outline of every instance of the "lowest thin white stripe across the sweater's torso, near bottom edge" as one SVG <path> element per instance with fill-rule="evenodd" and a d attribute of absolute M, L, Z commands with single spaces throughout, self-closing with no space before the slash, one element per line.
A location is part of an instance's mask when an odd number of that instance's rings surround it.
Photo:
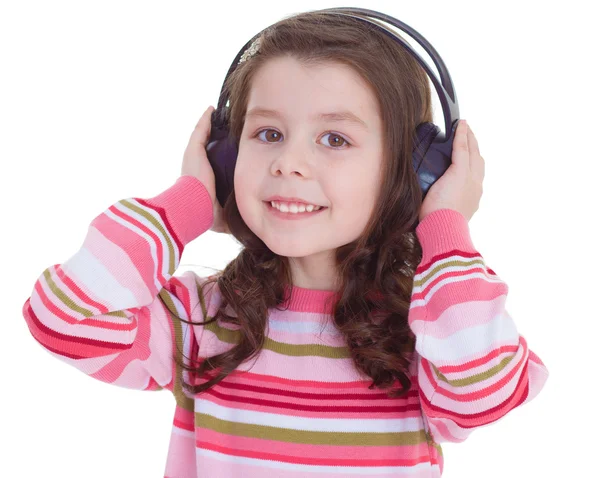
<path fill-rule="evenodd" d="M 377 447 L 374 447 L 377 448 Z M 358 476 L 416 476 L 417 473 L 424 473 L 431 470 L 431 478 L 438 478 L 439 467 L 431 463 L 420 463 L 415 466 L 323 466 L 323 465 L 303 465 L 301 463 L 285 463 L 282 461 L 261 460 L 256 458 L 247 458 L 241 456 L 226 455 L 212 450 L 196 448 L 196 456 L 213 458 L 215 460 L 234 463 L 245 466 L 260 466 L 271 468 L 273 470 L 286 470 L 298 473 L 340 473 L 344 475 Z M 201 463 L 202 460 L 199 460 Z M 213 475 L 214 476 L 214 475 Z M 275 475 L 274 475 L 275 476 Z M 419 475 L 424 476 L 424 475 Z"/>

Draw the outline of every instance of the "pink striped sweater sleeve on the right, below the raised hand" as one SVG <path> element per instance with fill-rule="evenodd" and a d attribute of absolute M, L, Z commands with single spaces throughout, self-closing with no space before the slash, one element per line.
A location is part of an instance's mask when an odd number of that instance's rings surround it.
<path fill-rule="evenodd" d="M 473 247 L 462 214 L 434 211 L 416 233 L 423 258 L 408 318 L 423 412 L 438 443 L 461 442 L 534 398 L 548 370 L 504 308 L 508 286 Z"/>

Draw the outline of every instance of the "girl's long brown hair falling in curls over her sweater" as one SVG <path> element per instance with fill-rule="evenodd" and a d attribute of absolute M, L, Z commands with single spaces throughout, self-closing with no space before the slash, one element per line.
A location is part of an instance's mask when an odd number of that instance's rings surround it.
<path fill-rule="evenodd" d="M 389 397 L 402 396 L 411 385 L 408 367 L 415 338 L 408 326 L 408 310 L 422 258 L 415 234 L 422 193 L 412 167 L 412 150 L 417 126 L 433 121 L 429 78 L 403 47 L 354 18 L 319 11 L 284 18 L 263 32 L 260 51 L 239 64 L 225 85 L 230 135 L 238 145 L 252 78 L 267 61 L 286 55 L 305 65 L 348 65 L 372 86 L 379 101 L 387 152 L 380 193 L 362 235 L 335 251 L 341 286 L 332 296 L 336 303 L 330 310 L 354 364 L 372 378 L 369 388 L 391 389 Z M 216 282 L 222 296 L 214 317 L 188 323 L 235 324 L 239 340 L 226 352 L 201 358 L 197 367 L 175 357 L 185 370 L 210 377 L 201 385 L 182 384 L 194 394 L 257 356 L 265 342 L 269 309 L 285 310 L 290 298 L 288 259 L 273 253 L 244 223 L 235 192 L 225 203 L 223 217 L 243 248 L 221 273 L 203 284 L 204 288 Z M 233 316 L 226 313 L 228 306 Z M 394 389 L 396 380 L 400 387 Z"/>

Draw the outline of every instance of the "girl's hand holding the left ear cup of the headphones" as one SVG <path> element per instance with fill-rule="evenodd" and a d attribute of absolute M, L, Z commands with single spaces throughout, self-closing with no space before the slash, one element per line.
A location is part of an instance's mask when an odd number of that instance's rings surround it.
<path fill-rule="evenodd" d="M 210 120 L 213 111 L 214 108 L 209 106 L 198 121 L 198 124 L 196 124 L 194 131 L 192 131 L 190 141 L 183 154 L 181 175 L 194 176 L 208 190 L 213 205 L 213 225 L 210 230 L 231 234 L 223 219 L 223 208 L 219 201 L 217 201 L 215 173 L 206 155 L 206 145 L 210 138 Z"/>

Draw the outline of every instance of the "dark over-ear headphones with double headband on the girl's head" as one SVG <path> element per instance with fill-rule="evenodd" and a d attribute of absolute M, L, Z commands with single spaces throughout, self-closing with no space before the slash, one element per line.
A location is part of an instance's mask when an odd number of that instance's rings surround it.
<path fill-rule="evenodd" d="M 431 46 L 431 44 L 421 34 L 400 20 L 390 17 L 389 15 L 385 15 L 374 10 L 351 7 L 327 8 L 319 10 L 319 13 L 321 12 L 332 15 L 347 15 L 366 24 L 376 26 L 383 33 L 396 40 L 399 44 L 403 45 L 408 53 L 410 53 L 415 60 L 419 62 L 427 75 L 429 75 L 429 78 L 431 79 L 433 86 L 435 87 L 435 90 L 440 98 L 442 109 L 444 111 L 445 133 L 442 133 L 438 126 L 429 122 L 421 123 L 416 129 L 412 154 L 413 168 L 417 173 L 419 185 L 421 186 L 421 191 L 424 198 L 431 185 L 435 183 L 452 164 L 452 144 L 454 142 L 454 135 L 459 122 L 456 93 L 454 91 L 454 85 L 452 84 L 450 73 L 448 73 L 448 70 L 446 69 L 446 65 L 433 46 Z M 384 22 L 394 25 L 413 37 L 433 59 L 440 73 L 440 78 L 442 81 L 441 84 L 431 68 L 429 68 L 429 65 L 425 63 L 423 58 L 410 46 L 406 40 L 393 32 L 388 26 L 385 26 L 383 23 L 377 20 L 369 19 L 368 17 L 383 20 Z M 240 63 L 242 56 L 248 55 L 248 48 L 250 47 L 251 52 L 253 51 L 255 47 L 254 41 L 259 38 L 267 28 L 263 29 L 261 32 L 252 37 L 238 52 L 236 58 L 229 68 L 229 71 L 227 72 L 227 75 L 225 76 L 225 81 L 221 87 L 217 108 L 213 111 L 211 116 L 211 133 L 206 146 L 206 154 L 215 173 L 215 189 L 217 199 L 222 207 L 225 207 L 225 201 L 233 191 L 233 173 L 238 154 L 237 146 L 229 138 L 229 123 L 227 119 L 226 106 L 228 102 L 228 92 L 225 89 L 225 83 L 229 75 Z"/>

